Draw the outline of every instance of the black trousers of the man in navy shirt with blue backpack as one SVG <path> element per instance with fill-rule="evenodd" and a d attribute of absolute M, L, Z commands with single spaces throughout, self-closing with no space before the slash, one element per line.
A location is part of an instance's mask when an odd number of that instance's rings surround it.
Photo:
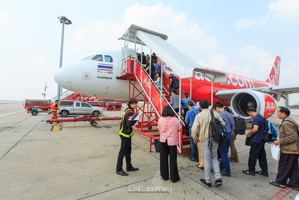
<path fill-rule="evenodd" d="M 255 171 L 255 165 L 257 164 L 257 160 L 259 160 L 260 168 L 264 172 L 268 173 L 268 164 L 267 164 L 264 141 L 260 143 L 255 143 L 251 141 L 249 158 L 248 158 L 248 168 L 251 171 Z"/>

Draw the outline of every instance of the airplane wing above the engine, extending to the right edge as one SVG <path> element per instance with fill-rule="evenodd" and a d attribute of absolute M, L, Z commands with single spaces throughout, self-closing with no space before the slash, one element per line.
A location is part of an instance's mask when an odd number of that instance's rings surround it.
<path fill-rule="evenodd" d="M 218 90 L 216 91 L 216 96 L 223 100 L 231 100 L 231 98 L 238 92 L 241 91 L 259 91 L 267 94 L 278 94 L 284 99 L 287 94 L 299 93 L 299 84 L 295 85 L 275 85 L 262 88 L 246 88 L 246 89 L 234 89 L 234 90 Z"/>

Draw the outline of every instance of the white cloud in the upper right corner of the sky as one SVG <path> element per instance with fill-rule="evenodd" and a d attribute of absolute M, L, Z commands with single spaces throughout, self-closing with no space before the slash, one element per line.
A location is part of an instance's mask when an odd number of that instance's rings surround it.
<path fill-rule="evenodd" d="M 237 30 L 251 26 L 263 27 L 271 18 L 278 19 L 279 22 L 291 22 L 298 24 L 299 20 L 299 1 L 298 0 L 278 0 L 269 4 L 269 10 L 266 16 L 255 19 L 239 19 L 235 22 Z"/>

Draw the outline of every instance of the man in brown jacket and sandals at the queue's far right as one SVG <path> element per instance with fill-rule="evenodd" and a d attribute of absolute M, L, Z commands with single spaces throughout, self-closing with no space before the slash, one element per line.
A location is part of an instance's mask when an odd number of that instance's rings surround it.
<path fill-rule="evenodd" d="M 299 191 L 298 155 L 299 155 L 299 126 L 289 117 L 290 110 L 286 107 L 277 110 L 277 117 L 282 119 L 279 126 L 279 140 L 274 145 L 280 145 L 280 158 L 278 161 L 277 176 L 270 184 L 285 188 L 291 187 Z M 287 184 L 288 178 L 290 179 Z"/>

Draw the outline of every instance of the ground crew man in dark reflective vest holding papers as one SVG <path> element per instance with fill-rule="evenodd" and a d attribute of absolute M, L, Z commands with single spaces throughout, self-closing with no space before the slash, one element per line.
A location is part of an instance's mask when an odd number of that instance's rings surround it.
<path fill-rule="evenodd" d="M 126 157 L 126 171 L 137 171 L 139 168 L 134 168 L 131 164 L 132 142 L 131 137 L 134 134 L 134 127 L 132 127 L 137 120 L 132 120 L 134 109 L 137 108 L 138 100 L 131 98 L 128 102 L 128 108 L 123 112 L 121 119 L 119 135 L 121 139 L 120 150 L 117 159 L 116 173 L 122 176 L 127 176 L 128 173 L 123 171 L 123 157 Z"/>

